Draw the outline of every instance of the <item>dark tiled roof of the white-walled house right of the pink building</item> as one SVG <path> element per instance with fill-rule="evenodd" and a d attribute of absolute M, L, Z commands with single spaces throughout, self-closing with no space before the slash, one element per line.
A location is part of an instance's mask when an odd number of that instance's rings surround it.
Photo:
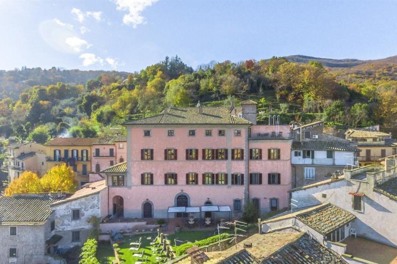
<path fill-rule="evenodd" d="M 360 151 L 350 144 L 341 141 L 294 141 L 292 150 L 333 150 L 333 151 Z"/>

